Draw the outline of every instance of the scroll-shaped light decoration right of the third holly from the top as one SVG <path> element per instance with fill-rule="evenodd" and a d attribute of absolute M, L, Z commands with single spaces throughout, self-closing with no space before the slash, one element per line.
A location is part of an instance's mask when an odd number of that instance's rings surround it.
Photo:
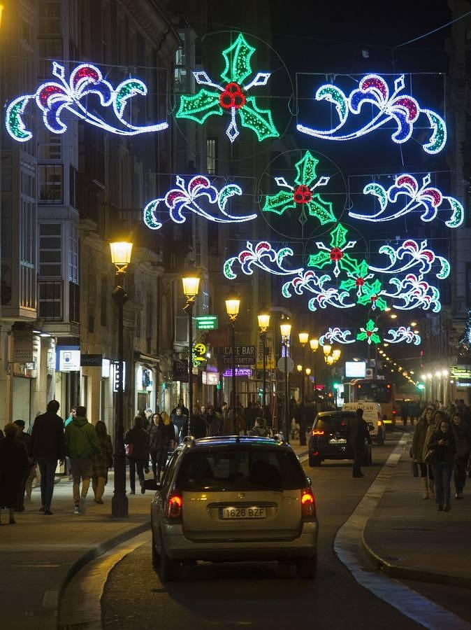
<path fill-rule="evenodd" d="M 417 243 L 413 239 L 407 239 L 398 248 L 391 245 L 382 245 L 379 253 L 389 257 L 389 265 L 386 267 L 374 267 L 370 265 L 368 269 L 381 274 L 400 274 L 410 271 L 414 267 L 419 267 L 421 274 L 427 274 L 431 270 L 438 279 L 447 278 L 450 273 L 450 263 L 443 256 L 437 256 L 427 247 L 424 239 Z"/>

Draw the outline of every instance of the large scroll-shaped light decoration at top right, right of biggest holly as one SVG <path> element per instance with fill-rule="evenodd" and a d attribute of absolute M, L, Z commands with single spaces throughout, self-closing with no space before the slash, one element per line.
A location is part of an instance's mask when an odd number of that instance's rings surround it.
<path fill-rule="evenodd" d="M 386 81 L 377 74 L 363 76 L 358 83 L 358 88 L 352 90 L 348 97 L 335 85 L 321 85 L 314 98 L 335 106 L 339 118 L 338 125 L 330 130 L 317 130 L 302 124 L 296 125 L 296 128 L 299 132 L 316 138 L 347 141 L 369 134 L 392 122 L 398 128 L 393 132 L 391 139 L 396 144 L 402 144 L 410 139 L 414 123 L 423 114 L 428 119 L 428 126 L 432 130 L 430 139 L 422 145 L 423 151 L 431 154 L 439 153 L 447 141 L 447 127 L 444 120 L 435 111 L 421 109 L 416 99 L 407 94 L 401 94 L 404 87 L 404 75 L 401 75 L 394 81 L 394 91 L 390 96 Z M 347 120 L 352 120 L 354 116 L 361 114 L 363 104 L 368 104 L 374 112 L 372 118 L 363 127 L 345 132 L 343 127 Z M 363 118 L 362 116 L 361 120 Z"/>

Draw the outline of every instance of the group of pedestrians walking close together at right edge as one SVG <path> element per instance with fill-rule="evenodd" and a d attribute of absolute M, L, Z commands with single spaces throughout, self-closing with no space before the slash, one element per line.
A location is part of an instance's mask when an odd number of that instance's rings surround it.
<path fill-rule="evenodd" d="M 423 499 L 435 497 L 437 510 L 451 510 L 451 480 L 457 500 L 470 475 L 471 410 L 463 400 L 423 408 L 414 429 L 410 456 L 413 475 L 421 480 Z"/>

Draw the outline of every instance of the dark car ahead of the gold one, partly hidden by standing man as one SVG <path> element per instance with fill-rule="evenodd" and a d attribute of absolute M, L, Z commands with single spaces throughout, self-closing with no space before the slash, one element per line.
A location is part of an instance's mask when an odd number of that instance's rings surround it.
<path fill-rule="evenodd" d="M 349 426 L 356 417 L 353 411 L 320 412 L 314 418 L 309 440 L 309 465 L 320 466 L 324 459 L 353 459 L 349 444 Z M 362 465 L 372 463 L 371 444 L 365 440 Z"/>

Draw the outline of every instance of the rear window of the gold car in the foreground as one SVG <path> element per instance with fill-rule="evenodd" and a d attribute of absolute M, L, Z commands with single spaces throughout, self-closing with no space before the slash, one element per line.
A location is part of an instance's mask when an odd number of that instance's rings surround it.
<path fill-rule="evenodd" d="M 183 491 L 294 490 L 306 484 L 296 455 L 271 449 L 193 451 L 178 472 Z"/>

